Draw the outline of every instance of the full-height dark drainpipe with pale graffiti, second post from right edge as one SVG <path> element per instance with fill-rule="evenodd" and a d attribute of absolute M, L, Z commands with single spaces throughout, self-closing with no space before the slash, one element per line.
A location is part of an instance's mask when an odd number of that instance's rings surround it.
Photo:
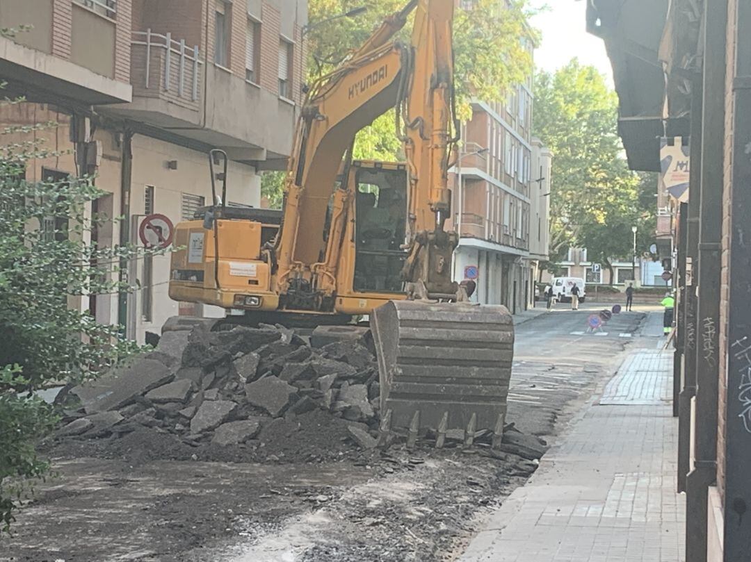
<path fill-rule="evenodd" d="M 707 560 L 707 499 L 716 479 L 719 287 L 725 162 L 727 0 L 704 3 L 704 111 L 701 116 L 694 466 L 686 477 L 686 562 Z"/>

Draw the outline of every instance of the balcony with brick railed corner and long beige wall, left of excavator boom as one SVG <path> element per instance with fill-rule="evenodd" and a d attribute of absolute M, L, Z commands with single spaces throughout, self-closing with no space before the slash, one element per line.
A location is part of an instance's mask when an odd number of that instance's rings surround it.
<path fill-rule="evenodd" d="M 285 166 L 294 105 L 207 62 L 200 47 L 169 32 L 133 32 L 131 83 L 133 102 L 108 108 L 111 113 L 159 128 L 188 146 L 224 149 L 232 160 Z"/>

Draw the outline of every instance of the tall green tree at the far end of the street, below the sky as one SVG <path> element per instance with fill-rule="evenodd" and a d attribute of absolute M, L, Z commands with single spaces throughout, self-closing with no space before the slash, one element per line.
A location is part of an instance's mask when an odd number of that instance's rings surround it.
<path fill-rule="evenodd" d="M 535 83 L 533 130 L 553 152 L 550 181 L 550 254 L 587 248 L 590 260 L 608 266 L 630 258 L 632 227 L 641 233 L 638 250 L 654 233 L 650 188 L 629 170 L 617 134 L 618 101 L 595 68 L 576 59 Z M 652 194 L 655 192 L 652 189 Z"/>

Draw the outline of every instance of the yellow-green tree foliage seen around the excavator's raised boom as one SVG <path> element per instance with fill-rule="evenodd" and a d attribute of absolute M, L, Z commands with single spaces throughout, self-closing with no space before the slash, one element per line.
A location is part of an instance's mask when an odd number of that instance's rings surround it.
<path fill-rule="evenodd" d="M 348 53 L 363 44 L 383 20 L 406 5 L 406 0 L 311 0 L 308 2 L 312 29 L 308 40 L 308 77 L 331 71 Z M 315 26 L 329 17 L 358 6 L 367 11 Z M 497 0 L 475 0 L 472 9 L 457 8 L 454 18 L 454 86 L 458 112 L 463 119 L 472 115 L 471 98 L 503 101 L 511 86 L 523 83 L 532 73 L 531 48 L 537 34 L 527 25 L 531 15 L 526 0 L 511 0 L 505 8 Z M 412 19 L 397 35 L 409 41 Z M 388 113 L 360 131 L 355 158 L 398 160 L 401 146 L 395 138 L 394 116 Z"/>

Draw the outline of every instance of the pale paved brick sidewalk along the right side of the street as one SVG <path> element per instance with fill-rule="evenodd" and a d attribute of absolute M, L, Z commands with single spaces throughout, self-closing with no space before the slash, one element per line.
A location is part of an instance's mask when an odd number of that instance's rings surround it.
<path fill-rule="evenodd" d="M 461 562 L 677 562 L 677 420 L 669 354 L 637 350 L 535 476 L 490 518 Z M 669 393 L 668 393 L 669 396 Z"/>

